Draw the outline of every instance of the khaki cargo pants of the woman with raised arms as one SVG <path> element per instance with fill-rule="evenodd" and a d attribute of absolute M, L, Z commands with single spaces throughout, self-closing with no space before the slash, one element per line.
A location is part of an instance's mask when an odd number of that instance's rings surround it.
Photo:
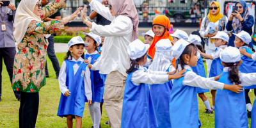
<path fill-rule="evenodd" d="M 118 71 L 107 75 L 104 87 L 104 106 L 112 128 L 121 127 L 126 77 Z"/>

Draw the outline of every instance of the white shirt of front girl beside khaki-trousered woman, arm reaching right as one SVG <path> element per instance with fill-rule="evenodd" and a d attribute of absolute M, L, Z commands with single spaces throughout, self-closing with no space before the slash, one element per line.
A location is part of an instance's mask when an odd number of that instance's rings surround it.
<path fill-rule="evenodd" d="M 131 77 L 131 81 L 135 85 L 140 85 L 140 83 L 163 84 L 169 81 L 167 72 L 152 71 L 142 66 L 139 69 L 133 72 Z"/>

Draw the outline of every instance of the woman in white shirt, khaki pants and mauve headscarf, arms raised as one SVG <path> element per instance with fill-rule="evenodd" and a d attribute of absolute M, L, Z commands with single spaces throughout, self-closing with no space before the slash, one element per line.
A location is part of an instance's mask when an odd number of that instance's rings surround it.
<path fill-rule="evenodd" d="M 120 127 L 122 104 L 129 68 L 127 47 L 138 38 L 138 13 L 132 0 L 110 0 L 109 9 L 97 0 L 88 0 L 93 9 L 111 21 L 108 26 L 101 26 L 86 19 L 85 10 L 82 20 L 96 35 L 106 36 L 99 63 L 95 63 L 100 74 L 107 74 L 104 88 L 104 104 L 111 127 Z"/>

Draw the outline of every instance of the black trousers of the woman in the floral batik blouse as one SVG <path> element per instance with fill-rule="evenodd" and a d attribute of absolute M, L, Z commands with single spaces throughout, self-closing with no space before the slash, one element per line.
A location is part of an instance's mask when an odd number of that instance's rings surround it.
<path fill-rule="evenodd" d="M 20 92 L 19 126 L 34 128 L 39 107 L 39 93 Z"/>

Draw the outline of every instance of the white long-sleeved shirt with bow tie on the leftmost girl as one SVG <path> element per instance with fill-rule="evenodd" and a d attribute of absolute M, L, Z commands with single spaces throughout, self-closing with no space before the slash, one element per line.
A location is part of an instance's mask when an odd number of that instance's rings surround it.
<path fill-rule="evenodd" d="M 74 58 L 72 58 L 71 61 L 81 61 L 81 63 L 83 63 L 84 59 L 81 57 L 78 60 L 75 60 Z M 67 64 L 65 61 L 63 61 L 60 68 L 60 74 L 59 74 L 60 91 L 61 93 L 63 93 L 63 95 L 65 94 L 65 92 L 68 91 L 68 88 L 66 86 L 66 77 L 67 77 L 66 67 L 67 67 Z M 79 67 L 80 65 L 77 65 L 77 63 L 73 65 L 74 74 L 76 74 Z M 70 95 L 72 95 L 72 93 Z M 86 67 L 84 71 L 84 95 L 88 100 L 92 100 L 92 84 L 90 79 L 90 69 L 88 67 Z"/>

